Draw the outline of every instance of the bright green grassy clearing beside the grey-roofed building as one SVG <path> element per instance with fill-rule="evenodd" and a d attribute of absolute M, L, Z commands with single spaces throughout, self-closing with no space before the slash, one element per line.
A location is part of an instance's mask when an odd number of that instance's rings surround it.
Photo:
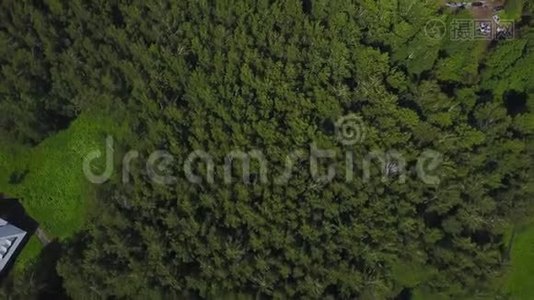
<path fill-rule="evenodd" d="M 82 227 L 94 195 L 83 174 L 83 158 L 90 151 L 104 151 L 105 137 L 115 130 L 113 120 L 85 114 L 33 148 L 0 142 L 0 191 L 20 199 L 51 238 L 72 236 Z M 32 237 L 19 256 L 20 265 L 40 249 Z"/>

